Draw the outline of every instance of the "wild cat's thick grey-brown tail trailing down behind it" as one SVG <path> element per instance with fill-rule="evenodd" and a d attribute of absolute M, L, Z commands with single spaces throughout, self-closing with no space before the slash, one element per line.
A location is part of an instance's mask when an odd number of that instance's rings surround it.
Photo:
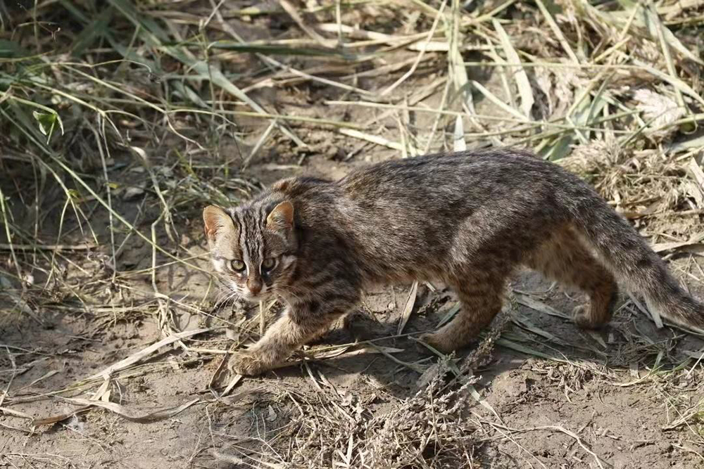
<path fill-rule="evenodd" d="M 596 192 L 570 194 L 570 212 L 584 240 L 607 269 L 648 309 L 679 326 L 704 333 L 704 304 L 686 293 L 646 240 Z"/>

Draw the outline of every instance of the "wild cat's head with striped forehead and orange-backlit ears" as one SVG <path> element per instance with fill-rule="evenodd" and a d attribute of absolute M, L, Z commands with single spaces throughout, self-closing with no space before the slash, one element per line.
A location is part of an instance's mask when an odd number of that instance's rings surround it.
<path fill-rule="evenodd" d="M 215 271 L 239 297 L 266 300 L 286 281 L 296 260 L 294 206 L 263 202 L 222 210 L 203 209 Z"/>

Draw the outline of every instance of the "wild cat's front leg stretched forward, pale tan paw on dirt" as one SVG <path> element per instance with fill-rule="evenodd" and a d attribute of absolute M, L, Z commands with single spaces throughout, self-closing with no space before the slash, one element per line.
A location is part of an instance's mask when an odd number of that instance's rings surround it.
<path fill-rule="evenodd" d="M 325 333 L 347 310 L 346 307 L 337 307 L 322 312 L 315 302 L 287 307 L 256 344 L 232 355 L 228 367 L 234 373 L 249 376 L 268 371 L 286 360 L 298 347 Z"/>

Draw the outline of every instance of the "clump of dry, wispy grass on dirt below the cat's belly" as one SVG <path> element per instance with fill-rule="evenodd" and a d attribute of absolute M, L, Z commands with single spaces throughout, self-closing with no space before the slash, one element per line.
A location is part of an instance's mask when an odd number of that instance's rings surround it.
<path fill-rule="evenodd" d="M 475 425 L 468 417 L 472 399 L 467 387 L 476 380 L 464 375 L 463 384 L 446 389 L 443 377 L 449 366 L 442 362 L 413 396 L 374 413 L 367 410 L 365 397 L 341 396 L 329 388 L 310 396 L 285 392 L 299 413 L 277 437 L 269 437 L 260 449 L 227 446 L 215 457 L 268 467 L 282 462 L 297 468 L 474 467 Z"/>

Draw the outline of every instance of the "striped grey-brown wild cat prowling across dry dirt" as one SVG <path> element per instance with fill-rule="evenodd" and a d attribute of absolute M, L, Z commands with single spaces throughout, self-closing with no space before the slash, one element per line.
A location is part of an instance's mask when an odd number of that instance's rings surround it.
<path fill-rule="evenodd" d="M 286 304 L 232 357 L 242 375 L 286 359 L 379 283 L 451 286 L 462 310 L 421 336 L 451 352 L 498 314 L 521 265 L 588 295 L 574 311 L 582 328 L 610 321 L 619 281 L 663 317 L 704 330 L 704 305 L 627 221 L 582 179 L 520 150 L 391 160 L 339 181 L 283 179 L 238 207 L 206 207 L 203 221 L 215 271 L 234 293 Z"/>

